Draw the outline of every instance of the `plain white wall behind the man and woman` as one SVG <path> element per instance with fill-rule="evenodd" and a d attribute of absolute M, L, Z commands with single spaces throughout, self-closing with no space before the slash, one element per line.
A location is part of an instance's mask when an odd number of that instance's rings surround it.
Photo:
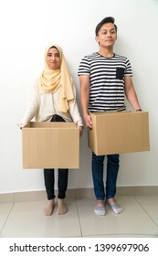
<path fill-rule="evenodd" d="M 105 16 L 115 17 L 115 52 L 131 59 L 142 110 L 150 113 L 151 151 L 121 155 L 118 186 L 158 185 L 157 14 L 156 0 L 1 1 L 0 193 L 44 189 L 42 170 L 22 169 L 21 131 L 16 126 L 26 111 L 30 81 L 43 66 L 44 49 L 57 43 L 79 100 L 79 61 L 98 49 L 94 29 Z M 86 129 L 80 140 L 80 169 L 69 171 L 68 187 L 92 187 Z"/>

